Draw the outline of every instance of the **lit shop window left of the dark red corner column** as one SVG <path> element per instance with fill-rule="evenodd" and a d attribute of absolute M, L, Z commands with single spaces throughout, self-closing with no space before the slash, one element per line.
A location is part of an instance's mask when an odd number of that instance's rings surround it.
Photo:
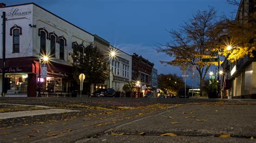
<path fill-rule="evenodd" d="M 10 79 L 7 94 L 26 94 L 28 90 L 28 74 L 6 75 Z"/>

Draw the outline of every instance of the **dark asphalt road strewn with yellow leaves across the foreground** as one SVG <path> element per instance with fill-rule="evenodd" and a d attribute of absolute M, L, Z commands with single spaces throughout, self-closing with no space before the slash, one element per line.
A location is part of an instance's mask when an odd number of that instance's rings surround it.
<path fill-rule="evenodd" d="M 253 99 L 0 98 L 0 103 L 80 111 L 0 119 L 0 142 L 255 142 L 256 138 Z M 6 112 L 9 107 L 2 108 Z M 175 136 L 161 136 L 165 133 Z"/>

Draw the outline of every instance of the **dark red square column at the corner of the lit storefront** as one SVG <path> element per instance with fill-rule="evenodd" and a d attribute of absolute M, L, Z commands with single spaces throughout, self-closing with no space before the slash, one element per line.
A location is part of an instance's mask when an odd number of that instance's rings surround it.
<path fill-rule="evenodd" d="M 36 74 L 28 74 L 28 97 L 36 97 Z"/>

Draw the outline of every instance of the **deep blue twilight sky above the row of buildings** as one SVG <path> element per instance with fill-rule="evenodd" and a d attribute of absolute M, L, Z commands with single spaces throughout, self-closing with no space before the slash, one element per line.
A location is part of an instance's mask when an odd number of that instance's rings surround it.
<path fill-rule="evenodd" d="M 166 30 L 176 29 L 198 10 L 213 6 L 218 15 L 234 15 L 237 7 L 226 0 L 2 0 L 6 5 L 36 3 L 84 30 L 97 34 L 122 51 L 142 55 L 154 63 L 158 74 L 176 73 L 179 68 L 159 60 L 170 60 L 156 53 L 154 45 L 170 40 Z M 196 80 L 198 81 L 198 80 Z M 192 81 L 188 78 L 187 84 Z M 198 82 L 196 82 L 198 83 Z"/>

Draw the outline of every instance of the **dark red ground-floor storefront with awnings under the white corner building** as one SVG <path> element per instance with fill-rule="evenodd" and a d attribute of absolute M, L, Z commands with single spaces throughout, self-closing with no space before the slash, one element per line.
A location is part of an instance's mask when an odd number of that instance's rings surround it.
<path fill-rule="evenodd" d="M 0 62 L 2 63 L 1 60 Z M 5 82 L 8 83 L 5 84 L 6 95 L 36 97 L 39 83 L 41 91 L 49 94 L 71 90 L 71 66 L 50 62 L 47 64 L 47 77 L 39 79 L 39 62 L 36 58 L 9 58 L 5 63 Z M 2 91 L 2 76 L 0 82 Z"/>

